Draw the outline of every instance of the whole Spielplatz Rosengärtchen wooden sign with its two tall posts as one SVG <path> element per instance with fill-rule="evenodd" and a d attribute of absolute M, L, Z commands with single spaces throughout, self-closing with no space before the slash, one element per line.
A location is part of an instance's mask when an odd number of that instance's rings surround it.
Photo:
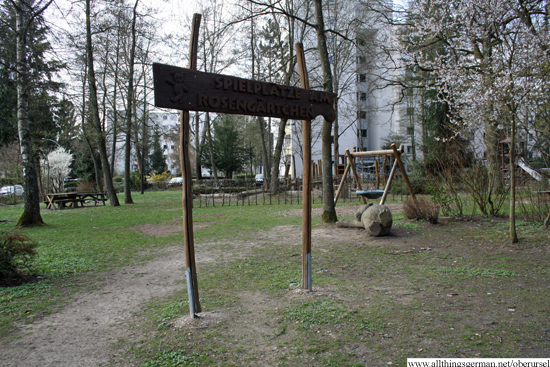
<path fill-rule="evenodd" d="M 302 288 L 311 291 L 311 120 L 322 115 L 336 119 L 334 93 L 309 89 L 304 51 L 296 44 L 302 88 L 247 80 L 234 76 L 196 71 L 201 16 L 193 16 L 189 46 L 189 68 L 153 64 L 155 106 L 181 110 L 180 162 L 184 177 L 182 187 L 183 228 L 189 313 L 201 312 L 195 244 L 193 239 L 193 192 L 189 161 L 189 111 L 252 115 L 302 120 L 304 149 Z"/>

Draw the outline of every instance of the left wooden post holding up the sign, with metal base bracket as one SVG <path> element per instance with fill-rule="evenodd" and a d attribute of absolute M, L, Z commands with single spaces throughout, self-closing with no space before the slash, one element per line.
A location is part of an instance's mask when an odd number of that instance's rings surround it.
<path fill-rule="evenodd" d="M 199 28 L 201 15 L 193 15 L 193 27 L 189 44 L 189 69 L 197 69 L 197 52 L 199 44 Z M 195 313 L 202 311 L 199 301 L 199 286 L 197 283 L 197 268 L 195 264 L 195 240 L 193 238 L 193 179 L 191 177 L 191 162 L 189 160 L 189 111 L 180 113 L 180 165 L 184 179 L 182 190 L 183 203 L 183 238 L 185 251 L 185 275 L 187 277 L 187 293 L 189 296 L 189 313 L 195 318 Z"/>

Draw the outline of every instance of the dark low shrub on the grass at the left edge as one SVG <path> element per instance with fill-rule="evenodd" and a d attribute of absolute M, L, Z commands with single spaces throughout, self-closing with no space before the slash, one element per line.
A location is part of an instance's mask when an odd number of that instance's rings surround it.
<path fill-rule="evenodd" d="M 0 279 L 22 275 L 22 268 L 29 269 L 36 255 L 35 244 L 12 231 L 0 231 Z"/>

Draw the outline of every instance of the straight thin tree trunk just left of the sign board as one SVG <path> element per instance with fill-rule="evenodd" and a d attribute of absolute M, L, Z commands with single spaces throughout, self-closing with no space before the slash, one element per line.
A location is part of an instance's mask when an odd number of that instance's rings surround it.
<path fill-rule="evenodd" d="M 131 178 L 130 178 L 130 158 L 132 153 L 132 105 L 134 102 L 134 58 L 136 54 L 136 9 L 139 0 L 136 0 L 134 4 L 133 16 L 132 16 L 132 46 L 130 48 L 130 60 L 128 72 L 128 96 L 126 102 L 126 145 L 124 149 L 124 204 L 133 204 L 132 190 L 131 190 Z M 137 145 L 137 141 L 136 141 Z M 138 159 L 139 161 L 139 159 Z"/>

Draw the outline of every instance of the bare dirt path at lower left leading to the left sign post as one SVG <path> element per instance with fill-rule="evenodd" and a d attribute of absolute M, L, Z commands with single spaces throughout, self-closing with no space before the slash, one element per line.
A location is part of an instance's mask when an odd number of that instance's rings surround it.
<path fill-rule="evenodd" d="M 112 343 L 132 335 L 127 324 L 153 297 L 181 288 L 183 251 L 172 249 L 140 266 L 108 274 L 97 289 L 55 314 L 21 325 L 15 340 L 0 348 L 2 366 L 106 366 L 117 360 Z"/>

